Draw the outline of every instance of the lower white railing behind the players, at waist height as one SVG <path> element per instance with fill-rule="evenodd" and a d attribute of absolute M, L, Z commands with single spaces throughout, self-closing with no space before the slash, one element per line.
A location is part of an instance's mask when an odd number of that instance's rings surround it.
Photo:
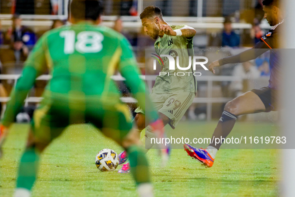
<path fill-rule="evenodd" d="M 153 81 L 156 79 L 157 75 L 141 75 L 140 77 L 146 81 L 147 86 L 151 92 L 153 87 Z M 14 80 L 14 86 L 16 85 L 17 79 L 20 77 L 20 74 L 0 74 L 1 80 L 12 79 Z M 49 80 L 51 79 L 50 75 L 41 75 L 37 77 L 36 80 Z M 113 80 L 125 80 L 121 75 L 112 76 Z M 241 81 L 243 78 L 237 76 L 196 76 L 197 81 L 207 81 L 207 97 L 195 97 L 193 103 L 206 103 L 207 104 L 207 120 L 212 118 L 212 104 L 213 103 L 224 103 L 230 101 L 232 97 L 213 97 L 213 81 Z M 9 97 L 0 97 L 0 102 L 6 102 Z M 42 97 L 27 97 L 25 99 L 25 106 L 28 102 L 40 102 Z M 137 100 L 133 97 L 121 97 L 121 100 L 126 103 L 134 103 Z"/>

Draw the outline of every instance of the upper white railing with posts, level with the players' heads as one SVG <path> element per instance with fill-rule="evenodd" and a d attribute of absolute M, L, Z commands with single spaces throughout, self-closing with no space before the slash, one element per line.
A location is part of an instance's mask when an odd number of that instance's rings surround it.
<path fill-rule="evenodd" d="M 58 4 L 58 14 L 57 15 L 39 15 L 39 14 L 22 14 L 20 15 L 21 18 L 26 20 L 34 20 L 35 26 L 50 26 L 49 22 L 42 23 L 38 20 L 53 20 L 53 19 L 61 19 L 66 20 L 68 17 L 68 1 L 69 0 L 56 0 Z M 184 23 L 189 26 L 192 26 L 196 29 L 222 29 L 223 28 L 223 21 L 224 17 L 203 17 L 203 1 L 198 0 L 198 11 L 197 17 L 184 17 L 184 16 L 165 16 L 165 20 L 167 22 L 173 22 L 174 24 Z M 140 14 L 143 10 L 143 0 L 137 0 L 137 12 Z M 117 15 L 104 15 L 103 16 L 103 25 L 106 26 L 113 26 L 113 21 L 117 19 Z M 12 18 L 12 14 L 0 14 L 0 19 L 6 19 L 7 21 L 3 21 L 3 25 L 7 25 L 7 23 L 11 23 L 8 21 Z M 139 16 L 121 16 L 123 20 L 123 26 L 126 28 L 140 28 L 141 21 Z M 32 23 L 27 23 L 23 21 L 23 25 L 30 26 Z M 269 28 L 270 26 L 268 23 L 263 23 L 262 28 Z M 250 29 L 252 25 L 250 23 L 239 22 L 233 23 L 234 29 Z"/>

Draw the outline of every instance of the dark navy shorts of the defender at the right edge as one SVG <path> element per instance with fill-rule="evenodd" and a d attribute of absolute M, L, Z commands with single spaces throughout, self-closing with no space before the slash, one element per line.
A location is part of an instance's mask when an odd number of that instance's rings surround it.
<path fill-rule="evenodd" d="M 266 112 L 276 111 L 278 104 L 278 90 L 271 89 L 269 87 L 262 87 L 260 89 L 252 89 L 256 93 L 261 101 L 264 103 Z"/>

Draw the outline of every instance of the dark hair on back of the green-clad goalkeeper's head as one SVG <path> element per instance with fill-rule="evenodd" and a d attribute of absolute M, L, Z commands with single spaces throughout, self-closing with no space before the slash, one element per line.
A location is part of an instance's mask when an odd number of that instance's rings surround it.
<path fill-rule="evenodd" d="M 72 0 L 71 15 L 76 19 L 97 20 L 102 14 L 103 5 L 100 0 Z"/>

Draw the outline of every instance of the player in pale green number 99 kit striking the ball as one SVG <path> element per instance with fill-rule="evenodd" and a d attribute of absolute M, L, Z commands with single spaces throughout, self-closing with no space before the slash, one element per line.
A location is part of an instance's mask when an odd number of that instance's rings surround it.
<path fill-rule="evenodd" d="M 193 56 L 193 38 L 196 30 L 187 25 L 169 25 L 162 15 L 159 7 L 148 6 L 140 14 L 140 19 L 144 31 L 154 39 L 155 50 L 160 55 L 170 55 L 174 58 L 179 58 L 180 68 L 169 69 L 169 60 L 163 58 L 163 66 L 160 73 L 156 77 L 155 85 L 153 86 L 150 97 L 158 111 L 159 116 L 164 122 L 164 125 L 169 124 L 173 129 L 176 127 L 180 119 L 188 107 L 192 104 L 197 91 L 197 82 L 195 76 L 179 76 L 177 73 L 183 71 L 189 65 L 189 56 Z M 193 69 L 189 70 L 193 73 Z M 135 112 L 135 121 L 139 131 L 143 130 L 147 125 L 147 114 L 140 105 Z M 152 132 L 151 125 L 145 128 L 145 137 L 142 142 L 145 143 L 146 149 L 152 147 L 151 138 L 155 138 Z M 119 154 L 119 164 L 127 160 L 126 151 Z M 131 164 L 131 163 L 130 163 Z M 118 171 L 120 173 L 129 172 L 129 163 L 127 162 Z"/>

